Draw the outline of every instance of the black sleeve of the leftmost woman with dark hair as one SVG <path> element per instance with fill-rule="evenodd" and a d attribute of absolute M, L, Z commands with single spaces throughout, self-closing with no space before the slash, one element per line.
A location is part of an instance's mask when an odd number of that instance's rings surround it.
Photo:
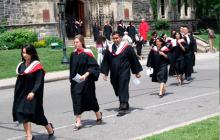
<path fill-rule="evenodd" d="M 35 76 L 36 76 L 36 80 L 34 83 L 34 88 L 32 89 L 33 93 L 36 93 L 38 89 L 41 88 L 41 84 L 43 84 L 43 80 L 44 80 L 43 70 L 36 71 Z"/>

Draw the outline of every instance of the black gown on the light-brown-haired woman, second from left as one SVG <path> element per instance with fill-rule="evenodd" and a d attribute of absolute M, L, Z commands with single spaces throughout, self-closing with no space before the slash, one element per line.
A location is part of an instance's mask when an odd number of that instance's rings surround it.
<path fill-rule="evenodd" d="M 90 52 L 84 51 L 80 54 L 73 52 L 70 56 L 71 97 L 74 115 L 80 115 L 84 111 L 90 110 L 99 111 L 95 93 L 95 81 L 98 80 L 100 69 Z M 77 83 L 72 80 L 77 73 L 83 75 L 86 72 L 90 72 L 90 75 L 85 81 Z"/>

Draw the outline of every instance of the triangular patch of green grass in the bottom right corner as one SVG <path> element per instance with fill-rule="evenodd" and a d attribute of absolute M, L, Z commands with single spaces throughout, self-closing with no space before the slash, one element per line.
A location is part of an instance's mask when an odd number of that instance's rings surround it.
<path fill-rule="evenodd" d="M 143 140 L 218 140 L 219 116 L 180 127 Z"/>

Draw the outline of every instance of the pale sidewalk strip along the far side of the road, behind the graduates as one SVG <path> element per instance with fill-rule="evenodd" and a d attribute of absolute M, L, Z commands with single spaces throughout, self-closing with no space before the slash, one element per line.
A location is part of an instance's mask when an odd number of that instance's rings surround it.
<path fill-rule="evenodd" d="M 216 53 L 198 53 L 196 55 L 196 60 L 203 60 L 203 59 L 209 59 L 213 57 L 219 57 L 219 52 Z M 140 61 L 142 66 L 145 66 L 147 63 L 146 59 L 143 59 Z M 58 80 L 64 80 L 68 79 L 69 77 L 69 70 L 65 71 L 57 71 L 57 72 L 49 72 L 46 73 L 45 76 L 45 82 L 53 82 L 53 81 L 58 81 Z M 1 89 L 8 89 L 8 88 L 13 88 L 16 82 L 16 77 L 13 78 L 7 78 L 7 79 L 2 79 L 0 80 L 0 90 Z"/>

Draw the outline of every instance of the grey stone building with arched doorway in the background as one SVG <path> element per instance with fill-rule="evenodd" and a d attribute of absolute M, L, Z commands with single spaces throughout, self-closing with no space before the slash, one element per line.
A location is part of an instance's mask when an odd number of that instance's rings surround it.
<path fill-rule="evenodd" d="M 8 27 L 27 26 L 39 33 L 58 35 L 60 0 L 0 0 L 0 21 Z M 83 34 L 91 36 L 91 26 L 105 21 L 126 23 L 141 18 L 153 20 L 150 0 L 64 0 L 66 23 L 83 21 Z M 192 21 L 195 19 L 194 0 L 157 0 L 158 19 Z"/>

